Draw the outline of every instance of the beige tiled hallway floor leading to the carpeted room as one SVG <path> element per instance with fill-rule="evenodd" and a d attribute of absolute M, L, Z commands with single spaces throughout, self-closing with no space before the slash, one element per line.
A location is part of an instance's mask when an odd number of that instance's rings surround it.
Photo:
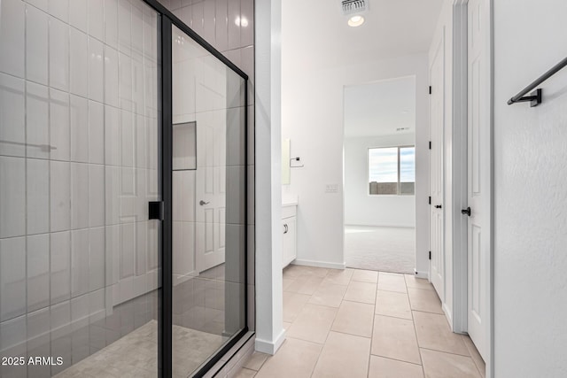
<path fill-rule="evenodd" d="M 431 284 L 409 274 L 288 266 L 286 341 L 237 377 L 479 378 L 469 336 L 451 332 Z"/>

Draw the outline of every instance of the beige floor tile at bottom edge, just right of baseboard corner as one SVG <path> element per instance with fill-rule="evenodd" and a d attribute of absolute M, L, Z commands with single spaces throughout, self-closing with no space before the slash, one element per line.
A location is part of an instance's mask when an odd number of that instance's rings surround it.
<path fill-rule="evenodd" d="M 321 350 L 318 343 L 288 338 L 276 355 L 268 358 L 256 378 L 308 378 Z"/>

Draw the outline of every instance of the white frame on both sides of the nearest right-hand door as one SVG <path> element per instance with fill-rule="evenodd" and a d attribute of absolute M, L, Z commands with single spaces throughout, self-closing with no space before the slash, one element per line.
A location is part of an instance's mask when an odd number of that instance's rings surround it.
<path fill-rule="evenodd" d="M 491 146 L 486 151 L 490 161 L 490 225 L 491 231 L 490 251 L 489 251 L 489 280 L 488 285 L 488 351 L 486 353 L 486 377 L 493 377 L 494 368 L 494 248 L 493 248 L 493 0 L 487 0 L 489 7 L 489 60 L 490 66 L 487 73 L 489 80 L 489 104 Z M 453 230 L 453 331 L 456 333 L 467 332 L 468 320 L 468 245 L 467 227 L 468 219 L 462 216 L 461 209 L 468 206 L 468 3 L 469 0 L 454 0 L 453 3 L 453 183 L 452 183 L 452 204 L 454 216 L 452 217 L 451 228 Z"/>

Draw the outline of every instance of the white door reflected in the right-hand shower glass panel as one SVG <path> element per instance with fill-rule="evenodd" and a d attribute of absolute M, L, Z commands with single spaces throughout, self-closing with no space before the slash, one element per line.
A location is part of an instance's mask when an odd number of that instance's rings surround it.
<path fill-rule="evenodd" d="M 225 261 L 226 110 L 197 114 L 196 263 L 198 273 Z"/>

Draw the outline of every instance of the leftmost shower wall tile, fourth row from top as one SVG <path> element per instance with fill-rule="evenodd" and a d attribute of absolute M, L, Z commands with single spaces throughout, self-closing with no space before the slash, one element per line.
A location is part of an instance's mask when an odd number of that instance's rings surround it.
<path fill-rule="evenodd" d="M 0 321 L 25 312 L 26 238 L 0 239 Z"/>

